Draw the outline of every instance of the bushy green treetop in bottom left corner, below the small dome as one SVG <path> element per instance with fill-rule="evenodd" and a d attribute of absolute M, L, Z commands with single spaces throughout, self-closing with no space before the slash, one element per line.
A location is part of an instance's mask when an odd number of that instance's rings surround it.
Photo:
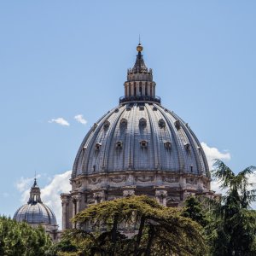
<path fill-rule="evenodd" d="M 32 228 L 25 222 L 0 217 L 0 255 L 43 256 L 50 245 L 42 227 Z"/>

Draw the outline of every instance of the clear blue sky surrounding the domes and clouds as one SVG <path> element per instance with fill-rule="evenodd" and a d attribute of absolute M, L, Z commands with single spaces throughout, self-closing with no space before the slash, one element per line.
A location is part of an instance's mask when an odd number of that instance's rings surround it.
<path fill-rule="evenodd" d="M 0 213 L 20 206 L 21 177 L 44 187 L 72 169 L 124 94 L 139 34 L 162 104 L 233 170 L 256 165 L 255 25 L 255 1 L 1 1 Z"/>

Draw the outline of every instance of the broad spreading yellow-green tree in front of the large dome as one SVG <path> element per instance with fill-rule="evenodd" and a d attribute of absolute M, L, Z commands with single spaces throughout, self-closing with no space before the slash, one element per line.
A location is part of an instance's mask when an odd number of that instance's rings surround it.
<path fill-rule="evenodd" d="M 80 229 L 63 236 L 76 252 L 58 255 L 206 255 L 201 226 L 147 196 L 92 205 L 73 218 Z M 75 254 L 76 253 L 76 254 Z"/>

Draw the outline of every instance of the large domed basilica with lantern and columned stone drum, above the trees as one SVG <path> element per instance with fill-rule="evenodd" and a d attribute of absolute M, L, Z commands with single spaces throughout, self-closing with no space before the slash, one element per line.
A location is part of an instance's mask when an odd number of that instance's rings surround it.
<path fill-rule="evenodd" d="M 143 61 L 143 45 L 127 71 L 125 96 L 90 128 L 79 147 L 70 179 L 61 194 L 62 229 L 91 204 L 129 195 L 148 195 L 166 207 L 188 195 L 213 197 L 201 143 L 189 125 L 161 105 L 153 71 Z"/>

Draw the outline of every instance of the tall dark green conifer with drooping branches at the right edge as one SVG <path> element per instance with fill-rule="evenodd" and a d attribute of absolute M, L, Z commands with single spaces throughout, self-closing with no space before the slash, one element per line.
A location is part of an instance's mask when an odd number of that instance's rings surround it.
<path fill-rule="evenodd" d="M 250 205 L 256 190 L 250 189 L 249 166 L 235 174 L 221 160 L 216 160 L 213 177 L 221 183 L 225 195 L 212 202 L 212 222 L 207 226 L 212 255 L 256 255 L 256 212 Z"/>

